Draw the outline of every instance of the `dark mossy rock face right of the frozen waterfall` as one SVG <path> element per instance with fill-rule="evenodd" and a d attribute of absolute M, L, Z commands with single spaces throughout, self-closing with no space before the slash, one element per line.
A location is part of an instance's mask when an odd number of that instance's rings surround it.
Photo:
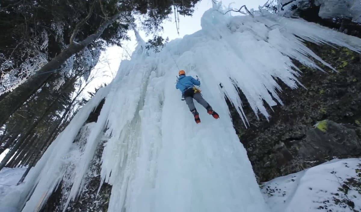
<path fill-rule="evenodd" d="M 246 129 L 236 111 L 231 112 L 261 182 L 332 158 L 361 156 L 361 55 L 326 45 L 309 47 L 339 72 L 299 66 L 305 88 L 283 86 L 284 106 L 269 109 L 269 122 L 257 120 L 244 99 L 250 127 Z"/>

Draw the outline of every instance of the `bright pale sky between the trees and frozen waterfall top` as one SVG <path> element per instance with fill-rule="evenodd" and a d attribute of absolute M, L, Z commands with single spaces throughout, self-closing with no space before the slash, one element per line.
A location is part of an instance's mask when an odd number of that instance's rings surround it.
<path fill-rule="evenodd" d="M 229 5 L 234 9 L 239 9 L 242 5 L 246 5 L 249 10 L 251 8 L 258 10 L 258 5 L 264 5 L 267 0 L 223 0 L 224 6 Z M 174 13 L 169 15 L 169 19 L 163 22 L 164 31 L 160 33 L 164 38 L 168 37 L 169 40 L 182 38 L 184 35 L 193 34 L 201 30 L 201 17 L 203 13 L 212 7 L 212 0 L 201 0 L 195 5 L 194 13 L 192 16 L 179 16 L 179 34 L 174 21 Z M 244 11 L 244 10 L 243 10 Z M 240 13 L 232 12 L 232 16 L 242 15 Z M 143 40 L 147 41 L 152 38 L 152 35 L 146 36 L 143 31 L 139 31 Z M 95 75 L 97 78 L 88 85 L 87 91 L 94 91 L 94 88 L 99 87 L 101 84 L 109 84 L 115 77 L 119 64 L 123 59 L 130 59 L 130 55 L 136 47 L 136 40 L 133 31 L 129 31 L 130 41 L 123 42 L 121 47 L 108 47 L 105 52 L 101 54 L 100 60 L 95 67 Z"/>

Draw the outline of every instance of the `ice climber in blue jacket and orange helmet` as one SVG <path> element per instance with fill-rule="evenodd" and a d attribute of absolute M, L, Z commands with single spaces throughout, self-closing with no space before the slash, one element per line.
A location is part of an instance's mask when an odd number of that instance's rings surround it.
<path fill-rule="evenodd" d="M 194 106 L 193 99 L 195 99 L 198 103 L 200 103 L 205 109 L 207 109 L 208 114 L 212 115 L 213 118 L 218 119 L 219 115 L 212 109 L 212 107 L 208 104 L 207 101 L 204 100 L 201 91 L 195 87 L 195 85 L 201 85 L 199 79 L 194 79 L 191 76 L 186 76 L 186 72 L 184 70 L 179 71 L 179 78 L 175 88 L 181 90 L 184 100 L 189 107 L 189 110 L 194 115 L 194 120 L 196 123 L 200 123 L 199 114 L 197 112 L 196 107 Z"/>

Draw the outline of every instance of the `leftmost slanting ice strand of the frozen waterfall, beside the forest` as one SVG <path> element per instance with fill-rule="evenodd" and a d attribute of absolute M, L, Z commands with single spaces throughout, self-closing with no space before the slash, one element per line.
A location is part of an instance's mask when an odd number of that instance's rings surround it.
<path fill-rule="evenodd" d="M 37 211 L 57 187 L 68 168 L 67 156 L 71 155 L 73 151 L 73 148 L 71 147 L 73 147 L 74 138 L 77 136 L 79 129 L 82 128 L 83 123 L 88 118 L 90 112 L 94 110 L 105 95 L 108 94 L 109 88 L 110 87 L 105 87 L 98 90 L 96 95 L 82 107 L 65 130 L 52 142 L 42 158 L 36 163 L 36 166 L 30 170 L 28 176 L 25 178 L 26 185 L 23 194 L 29 194 L 33 189 L 34 191 L 22 211 Z M 104 125 L 102 127 L 104 127 Z M 96 130 L 97 129 L 94 127 L 92 133 L 96 132 Z M 89 146 L 89 140 L 90 138 L 87 140 L 86 148 Z M 86 152 L 87 149 L 84 151 Z M 78 151 L 76 151 L 76 154 L 78 154 Z M 82 154 L 81 159 L 83 159 L 83 163 L 88 163 L 88 158 L 91 160 L 92 155 Z M 80 163 L 77 163 L 78 169 L 84 168 L 79 166 L 79 164 Z M 74 172 L 77 173 L 76 170 Z"/>

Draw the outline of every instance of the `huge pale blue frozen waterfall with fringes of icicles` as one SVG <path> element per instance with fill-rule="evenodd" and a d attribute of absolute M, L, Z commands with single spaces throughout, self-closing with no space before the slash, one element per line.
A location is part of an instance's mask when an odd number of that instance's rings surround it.
<path fill-rule="evenodd" d="M 291 88 L 301 85 L 301 73 L 290 58 L 321 71 L 314 60 L 330 67 L 303 40 L 357 52 L 361 41 L 301 19 L 267 13 L 231 17 L 218 10 L 204 13 L 202 30 L 171 41 L 159 53 L 146 51 L 137 36 L 139 45 L 131 60 L 122 61 L 112 83 L 78 112 L 31 169 L 21 195 L 5 205 L 38 211 L 66 180 L 71 185 L 64 194 L 66 208 L 81 194 L 96 148 L 107 138 L 99 184 L 112 185 L 108 212 L 269 211 L 225 97 L 246 126 L 237 87 L 257 115 L 269 118 L 266 107 L 282 104 L 275 78 Z M 195 124 L 175 89 L 177 66 L 187 75 L 199 76 L 202 94 L 219 120 L 197 104 L 202 123 Z M 83 126 L 103 98 L 97 122 Z M 73 143 L 79 131 L 87 132 L 81 146 Z"/>

